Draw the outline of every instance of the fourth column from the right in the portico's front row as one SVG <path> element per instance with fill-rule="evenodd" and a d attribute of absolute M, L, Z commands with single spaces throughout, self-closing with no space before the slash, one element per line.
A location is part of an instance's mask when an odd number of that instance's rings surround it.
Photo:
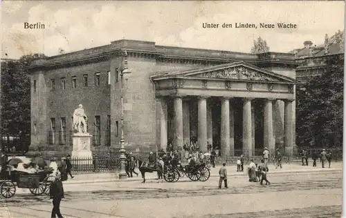
<path fill-rule="evenodd" d="M 230 156 L 230 100 L 221 99 L 221 152 Z"/>

